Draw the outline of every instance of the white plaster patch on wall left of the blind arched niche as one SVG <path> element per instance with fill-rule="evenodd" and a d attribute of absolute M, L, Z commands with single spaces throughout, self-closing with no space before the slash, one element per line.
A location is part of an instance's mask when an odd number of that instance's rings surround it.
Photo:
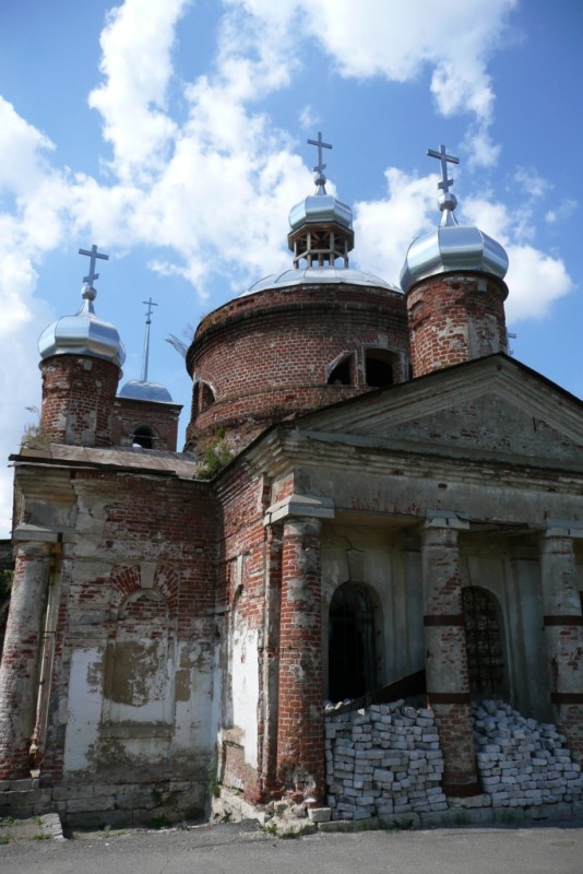
<path fill-rule="evenodd" d="M 69 711 L 64 740 L 64 772 L 91 766 L 102 718 L 102 652 L 74 649 L 69 678 Z"/>

